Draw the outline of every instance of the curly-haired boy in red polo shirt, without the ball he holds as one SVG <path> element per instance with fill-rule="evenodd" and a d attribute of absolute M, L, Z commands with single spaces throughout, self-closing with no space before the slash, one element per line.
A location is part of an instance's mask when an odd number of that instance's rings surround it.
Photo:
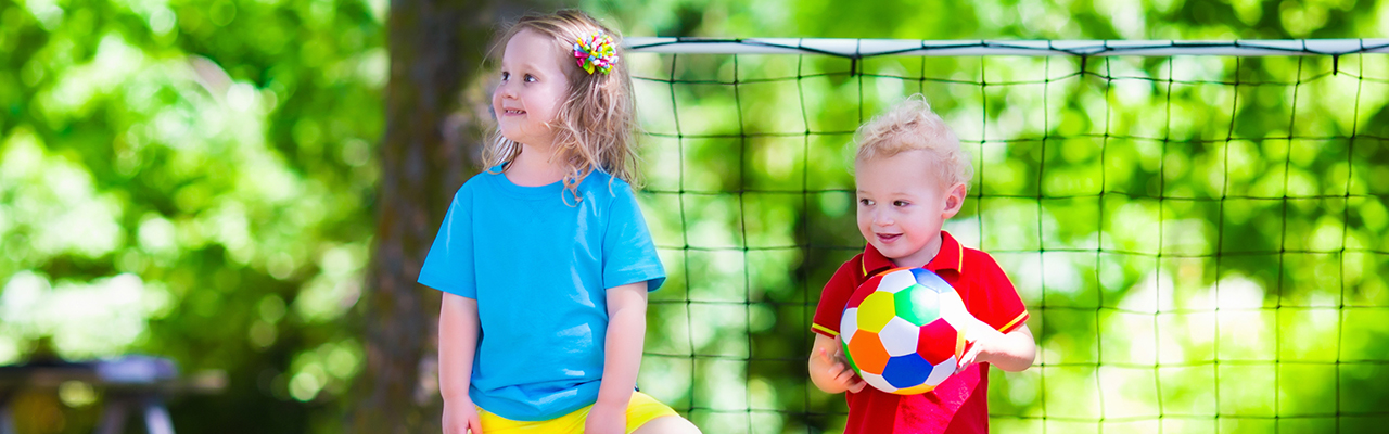
<path fill-rule="evenodd" d="M 993 257 L 940 230 L 964 204 L 974 175 L 970 156 L 921 95 L 860 127 L 856 142 L 858 231 L 868 245 L 825 284 L 811 327 L 810 378 L 821 391 L 849 392 L 845 434 L 988 433 L 989 366 L 1025 370 L 1036 344 L 1026 307 Z M 897 267 L 935 271 L 979 320 L 965 331 L 971 346 L 960 370 L 921 395 L 865 387 L 840 351 L 839 319 L 849 296 L 868 277 Z"/>

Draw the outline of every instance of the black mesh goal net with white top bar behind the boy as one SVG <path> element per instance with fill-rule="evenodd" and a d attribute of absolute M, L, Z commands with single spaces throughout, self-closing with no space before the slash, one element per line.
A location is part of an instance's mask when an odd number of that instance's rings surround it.
<path fill-rule="evenodd" d="M 854 128 L 922 93 L 972 153 L 946 223 L 1040 348 L 1001 433 L 1389 426 L 1389 39 L 628 38 L 671 274 L 640 385 L 706 433 L 820 433 L 820 289 L 861 252 Z"/>

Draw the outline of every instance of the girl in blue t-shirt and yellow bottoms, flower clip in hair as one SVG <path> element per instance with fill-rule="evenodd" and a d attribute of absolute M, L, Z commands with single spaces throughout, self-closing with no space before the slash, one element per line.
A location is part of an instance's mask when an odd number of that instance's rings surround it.
<path fill-rule="evenodd" d="M 646 295 L 665 281 L 628 181 L 619 38 L 578 11 L 500 39 L 499 134 L 419 271 L 443 291 L 444 433 L 699 433 L 636 392 Z"/>

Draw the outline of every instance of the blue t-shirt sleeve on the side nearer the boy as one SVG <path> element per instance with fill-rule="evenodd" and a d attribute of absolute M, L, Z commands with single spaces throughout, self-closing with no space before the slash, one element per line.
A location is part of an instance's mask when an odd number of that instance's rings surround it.
<path fill-rule="evenodd" d="M 613 192 L 603 232 L 603 288 L 649 281 L 646 291 L 656 291 L 665 282 L 665 268 L 642 209 L 626 184 L 613 185 Z"/>

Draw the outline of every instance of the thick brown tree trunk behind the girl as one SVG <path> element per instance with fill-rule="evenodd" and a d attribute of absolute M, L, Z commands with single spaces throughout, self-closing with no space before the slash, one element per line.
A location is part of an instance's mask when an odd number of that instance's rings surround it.
<path fill-rule="evenodd" d="M 542 1 L 393 0 L 376 239 L 358 303 L 365 366 L 350 433 L 439 433 L 439 292 L 415 282 L 453 193 L 478 172 L 490 89 L 479 81 L 501 22 Z"/>

